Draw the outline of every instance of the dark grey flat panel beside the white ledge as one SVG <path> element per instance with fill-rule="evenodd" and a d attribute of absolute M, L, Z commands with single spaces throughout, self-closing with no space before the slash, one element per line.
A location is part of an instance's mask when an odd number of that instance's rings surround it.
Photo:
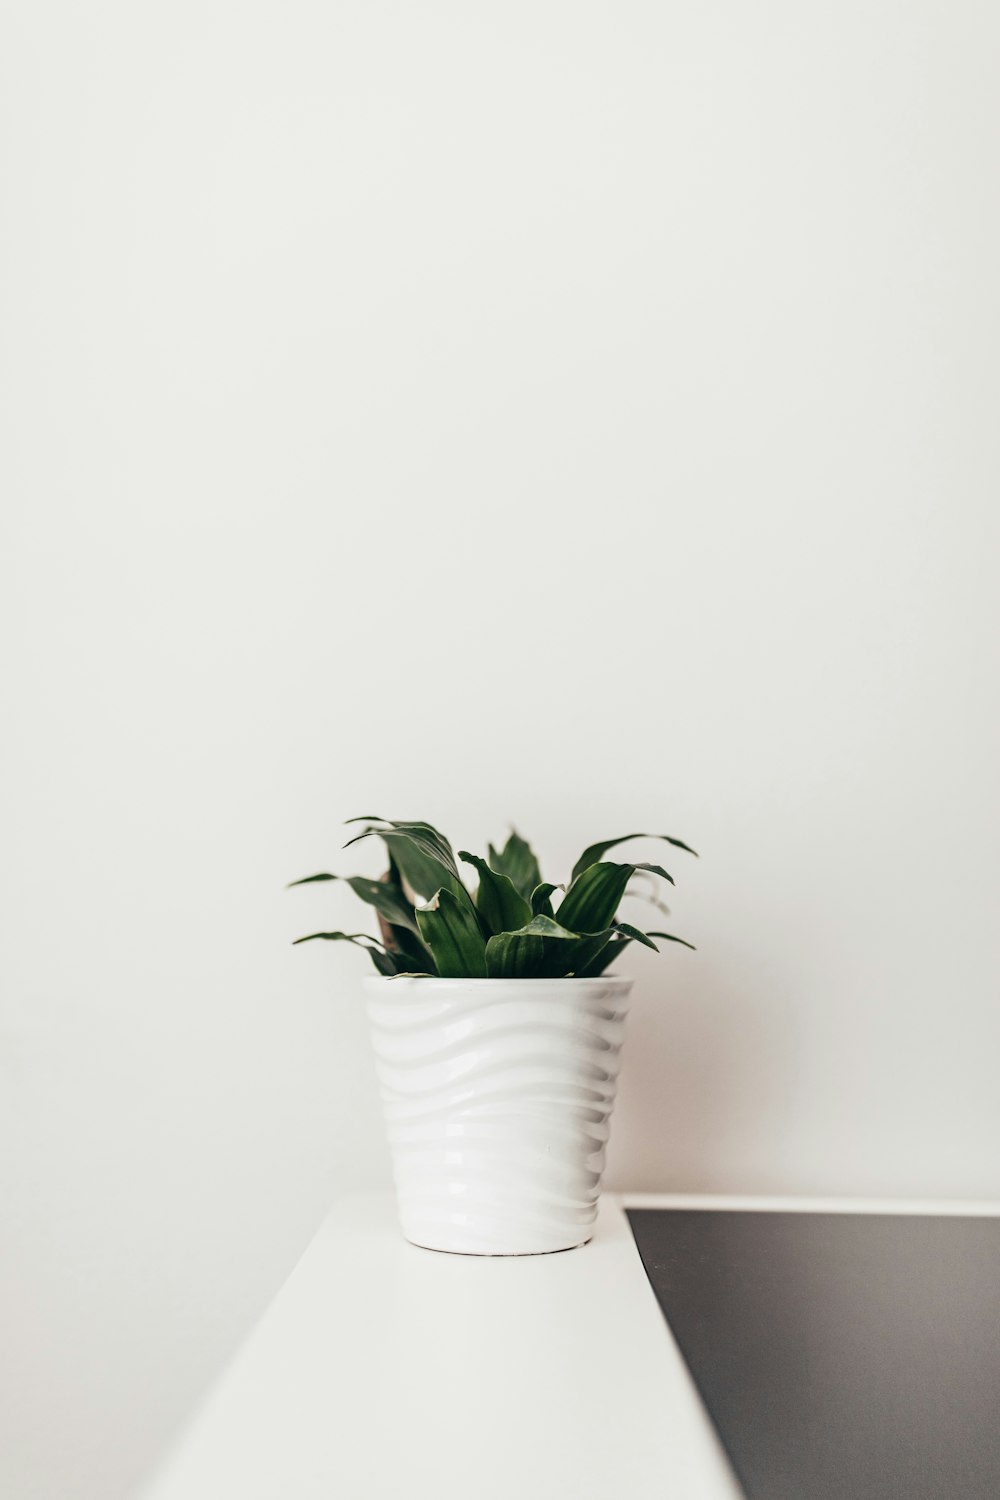
<path fill-rule="evenodd" d="M 750 1500 L 1000 1500 L 1000 1220 L 628 1218 Z"/>

